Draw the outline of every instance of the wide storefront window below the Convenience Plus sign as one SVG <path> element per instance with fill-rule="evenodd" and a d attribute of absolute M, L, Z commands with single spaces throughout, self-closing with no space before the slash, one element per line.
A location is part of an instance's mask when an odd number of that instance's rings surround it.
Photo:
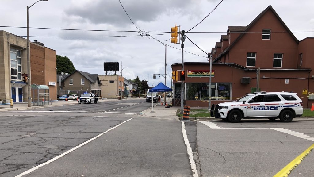
<path fill-rule="evenodd" d="M 231 100 L 231 83 L 187 83 L 187 100 Z"/>

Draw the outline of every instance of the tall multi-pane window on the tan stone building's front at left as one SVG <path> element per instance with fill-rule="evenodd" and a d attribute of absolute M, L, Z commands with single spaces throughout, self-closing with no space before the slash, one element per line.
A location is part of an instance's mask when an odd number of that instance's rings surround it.
<path fill-rule="evenodd" d="M 22 80 L 21 51 L 10 49 L 11 79 Z"/>

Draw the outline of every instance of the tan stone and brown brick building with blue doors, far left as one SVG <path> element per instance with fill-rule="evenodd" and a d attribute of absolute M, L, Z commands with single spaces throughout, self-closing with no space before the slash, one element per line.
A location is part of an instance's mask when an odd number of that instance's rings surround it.
<path fill-rule="evenodd" d="M 35 41 L 36 42 L 36 41 Z M 39 44 L 41 45 L 39 45 Z M 31 84 L 48 85 L 50 98 L 57 97 L 56 51 L 40 42 L 30 42 Z M 27 102 L 27 40 L 0 31 L 0 99 L 6 103 Z M 25 76 L 24 75 L 24 76 Z"/>

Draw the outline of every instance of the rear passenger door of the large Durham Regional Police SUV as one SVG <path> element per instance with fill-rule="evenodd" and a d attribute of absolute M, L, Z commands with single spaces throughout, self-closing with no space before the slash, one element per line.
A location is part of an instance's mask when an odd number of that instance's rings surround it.
<path fill-rule="evenodd" d="M 278 116 L 283 104 L 278 95 L 265 95 L 265 116 Z"/>

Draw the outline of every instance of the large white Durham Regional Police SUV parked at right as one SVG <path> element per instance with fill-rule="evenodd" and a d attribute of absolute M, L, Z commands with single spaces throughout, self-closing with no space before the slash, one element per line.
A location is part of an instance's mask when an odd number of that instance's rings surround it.
<path fill-rule="evenodd" d="M 280 119 L 291 122 L 303 114 L 303 102 L 297 93 L 254 92 L 233 101 L 212 105 L 211 116 L 240 122 L 241 119 L 267 118 L 271 121 Z"/>

